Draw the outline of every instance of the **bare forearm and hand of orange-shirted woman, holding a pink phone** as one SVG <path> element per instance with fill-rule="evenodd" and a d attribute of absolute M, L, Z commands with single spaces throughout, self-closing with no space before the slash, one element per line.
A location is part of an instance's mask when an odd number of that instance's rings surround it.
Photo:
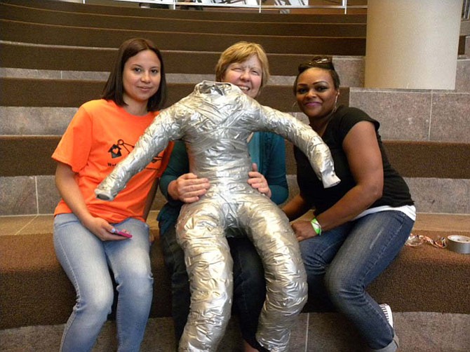
<path fill-rule="evenodd" d="M 112 231 L 113 226 L 105 219 L 93 217 L 93 215 L 90 214 L 75 177 L 76 173 L 72 170 L 70 165 L 58 163 L 55 170 L 55 185 L 62 199 L 67 203 L 76 217 L 80 219 L 83 226 L 93 232 L 95 236 L 102 241 L 121 241 L 126 239 L 122 236 L 112 234 L 110 231 Z"/>

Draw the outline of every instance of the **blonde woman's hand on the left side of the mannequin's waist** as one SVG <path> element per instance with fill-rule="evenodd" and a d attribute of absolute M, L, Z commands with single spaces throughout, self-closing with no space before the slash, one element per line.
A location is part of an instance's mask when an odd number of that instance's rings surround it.
<path fill-rule="evenodd" d="M 184 203 L 194 203 L 206 194 L 209 187 L 208 179 L 198 178 L 194 173 L 189 172 L 168 184 L 168 194 L 171 198 Z"/>

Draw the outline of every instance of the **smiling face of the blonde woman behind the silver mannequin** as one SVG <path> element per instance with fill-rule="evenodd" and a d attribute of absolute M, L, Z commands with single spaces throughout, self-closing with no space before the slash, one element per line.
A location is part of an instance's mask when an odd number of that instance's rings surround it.
<path fill-rule="evenodd" d="M 243 62 L 231 63 L 222 77 L 223 82 L 238 86 L 249 97 L 257 97 L 262 83 L 262 66 L 256 55 Z"/>

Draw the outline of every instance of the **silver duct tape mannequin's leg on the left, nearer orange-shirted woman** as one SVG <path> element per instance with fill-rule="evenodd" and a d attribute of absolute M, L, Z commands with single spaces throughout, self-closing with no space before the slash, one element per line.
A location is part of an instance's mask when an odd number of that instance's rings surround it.
<path fill-rule="evenodd" d="M 224 215 L 208 202 L 188 205 L 182 208 L 176 228 L 191 287 L 191 308 L 180 351 L 216 351 L 229 322 L 233 292 Z"/>

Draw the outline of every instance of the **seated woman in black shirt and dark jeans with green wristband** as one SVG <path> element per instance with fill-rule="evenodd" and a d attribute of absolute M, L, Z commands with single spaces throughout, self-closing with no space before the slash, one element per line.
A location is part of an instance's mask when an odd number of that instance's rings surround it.
<path fill-rule="evenodd" d="M 283 210 L 290 220 L 314 208 L 311 221 L 293 223 L 307 269 L 309 299 L 344 313 L 372 351 L 396 351 L 387 304 L 365 288 L 389 266 L 415 222 L 403 178 L 391 167 L 379 123 L 360 109 L 337 107 L 340 78 L 331 57 L 299 66 L 297 104 L 320 135 L 341 182 L 323 188 L 307 158 L 295 149 L 300 194 Z"/>

